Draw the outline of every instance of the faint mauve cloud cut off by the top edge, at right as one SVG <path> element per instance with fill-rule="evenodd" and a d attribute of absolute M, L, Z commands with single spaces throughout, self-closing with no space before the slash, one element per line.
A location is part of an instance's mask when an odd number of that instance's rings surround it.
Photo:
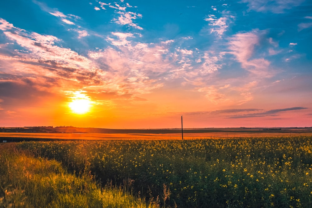
<path fill-rule="evenodd" d="M 257 12 L 284 13 L 285 10 L 299 6 L 305 0 L 242 0 L 248 3 L 249 10 Z"/>

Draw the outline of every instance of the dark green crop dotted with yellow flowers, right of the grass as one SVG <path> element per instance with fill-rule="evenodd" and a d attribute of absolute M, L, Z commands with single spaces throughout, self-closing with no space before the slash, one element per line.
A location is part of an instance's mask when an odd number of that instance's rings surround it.
<path fill-rule="evenodd" d="M 312 137 L 23 142 L 105 184 L 125 184 L 163 206 L 308 207 Z"/>

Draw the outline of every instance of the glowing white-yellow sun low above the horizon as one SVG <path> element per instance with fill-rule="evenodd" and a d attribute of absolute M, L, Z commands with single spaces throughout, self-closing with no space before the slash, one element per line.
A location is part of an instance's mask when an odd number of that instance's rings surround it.
<path fill-rule="evenodd" d="M 75 96 L 71 97 L 72 101 L 68 104 L 75 114 L 85 114 L 90 111 L 92 102 L 88 96 L 82 93 L 81 91 L 74 92 Z"/>

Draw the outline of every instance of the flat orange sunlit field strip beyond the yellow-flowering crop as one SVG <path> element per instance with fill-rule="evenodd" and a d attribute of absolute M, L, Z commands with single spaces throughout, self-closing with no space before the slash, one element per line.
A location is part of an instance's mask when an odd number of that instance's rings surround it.
<path fill-rule="evenodd" d="M 282 137 L 282 136 L 309 136 L 312 133 L 277 133 L 277 132 L 210 132 L 210 133 L 183 133 L 183 139 L 205 139 L 205 138 L 237 138 L 237 137 Z M 38 139 L 182 139 L 181 133 L 0 133 L 0 141 L 32 140 Z M 1 141 L 2 142 L 2 141 Z"/>

